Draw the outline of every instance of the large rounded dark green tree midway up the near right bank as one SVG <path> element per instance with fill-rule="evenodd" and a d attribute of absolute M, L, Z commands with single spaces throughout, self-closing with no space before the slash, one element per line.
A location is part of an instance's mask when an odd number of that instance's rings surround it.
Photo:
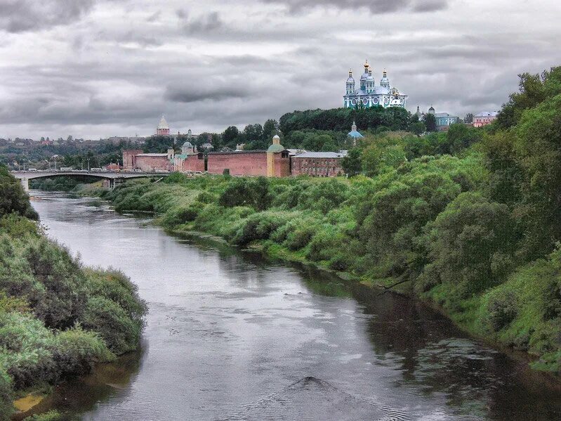
<path fill-rule="evenodd" d="M 506 205 L 462 193 L 428 224 L 421 284 L 447 283 L 460 297 L 506 280 L 513 268 L 514 224 Z"/>

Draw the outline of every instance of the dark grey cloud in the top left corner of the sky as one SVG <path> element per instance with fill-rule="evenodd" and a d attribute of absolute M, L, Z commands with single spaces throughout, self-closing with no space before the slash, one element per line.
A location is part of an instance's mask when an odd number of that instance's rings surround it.
<path fill-rule="evenodd" d="M 67 25 L 93 4 L 94 0 L 0 0 L 0 30 L 25 32 Z"/>

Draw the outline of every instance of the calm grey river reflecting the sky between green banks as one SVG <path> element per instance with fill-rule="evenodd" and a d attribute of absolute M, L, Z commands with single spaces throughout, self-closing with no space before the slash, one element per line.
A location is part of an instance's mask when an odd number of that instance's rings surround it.
<path fill-rule="evenodd" d="M 149 305 L 142 349 L 44 401 L 83 420 L 560 420 L 561 389 L 410 299 L 32 192 Z"/>

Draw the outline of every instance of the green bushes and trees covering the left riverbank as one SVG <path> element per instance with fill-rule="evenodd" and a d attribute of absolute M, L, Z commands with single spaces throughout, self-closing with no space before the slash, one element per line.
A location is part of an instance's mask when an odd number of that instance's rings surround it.
<path fill-rule="evenodd" d="M 10 420 L 22 391 L 136 349 L 146 312 L 123 273 L 84 267 L 37 219 L 0 167 L 0 420 Z"/>

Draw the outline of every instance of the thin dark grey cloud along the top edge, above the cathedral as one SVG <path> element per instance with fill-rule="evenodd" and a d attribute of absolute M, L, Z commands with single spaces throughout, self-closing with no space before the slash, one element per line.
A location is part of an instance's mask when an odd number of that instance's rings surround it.
<path fill-rule="evenodd" d="M 339 9 L 367 8 L 370 13 L 392 13 L 397 11 L 435 12 L 448 7 L 449 0 L 261 0 L 264 3 L 282 4 L 291 13 L 300 13 L 310 8 L 333 7 Z"/>

